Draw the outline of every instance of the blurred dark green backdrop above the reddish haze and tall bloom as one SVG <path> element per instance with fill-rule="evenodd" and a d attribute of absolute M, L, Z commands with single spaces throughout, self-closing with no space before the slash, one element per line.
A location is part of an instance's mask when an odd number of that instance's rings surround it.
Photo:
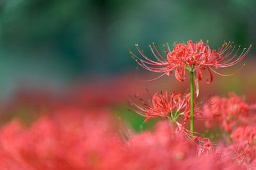
<path fill-rule="evenodd" d="M 136 63 L 125 43 L 207 39 L 255 45 L 256 1 L 0 1 L 0 94 L 22 83 L 58 89 L 80 78 L 122 74 Z M 146 50 L 145 50 L 146 51 Z M 250 55 L 253 57 L 253 46 Z"/>

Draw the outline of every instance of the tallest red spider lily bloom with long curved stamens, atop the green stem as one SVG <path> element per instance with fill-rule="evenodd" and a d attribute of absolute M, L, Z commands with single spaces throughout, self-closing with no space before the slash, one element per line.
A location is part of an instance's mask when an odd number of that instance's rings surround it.
<path fill-rule="evenodd" d="M 142 55 L 142 59 L 137 57 L 134 53 L 131 52 L 132 57 L 136 60 L 136 62 L 143 68 L 148 69 L 149 71 L 163 73 L 164 74 L 172 74 L 172 71 L 175 71 L 175 77 L 179 81 L 184 81 L 185 73 L 187 71 L 193 71 L 197 74 L 196 81 L 202 80 L 202 70 L 207 69 L 210 73 L 210 80 L 207 80 L 207 83 L 211 83 L 212 81 L 212 73 L 220 74 L 216 70 L 213 69 L 220 67 L 229 67 L 237 64 L 247 55 L 250 51 L 250 47 L 248 50 L 246 48 L 243 49 L 243 52 L 237 57 L 237 53 L 232 55 L 235 47 L 232 47 L 233 43 L 224 43 L 221 48 L 219 48 L 218 52 L 216 50 L 211 50 L 207 43 L 203 43 L 202 41 L 198 43 L 193 43 L 191 40 L 185 43 L 179 43 L 174 46 L 173 50 L 170 50 L 170 46 L 166 43 L 165 55 L 161 53 L 155 43 L 153 43 L 153 47 L 150 46 L 150 50 L 152 51 L 154 57 L 156 57 L 157 61 L 151 60 L 145 55 L 145 53 L 139 48 L 138 44 L 136 44 L 136 48 L 138 52 Z M 237 58 L 236 58 L 237 57 Z M 233 73 L 235 74 L 235 73 Z M 224 74 L 220 74 L 225 76 Z M 229 74 L 232 75 L 232 74 Z M 161 77 L 159 76 L 159 77 Z"/>

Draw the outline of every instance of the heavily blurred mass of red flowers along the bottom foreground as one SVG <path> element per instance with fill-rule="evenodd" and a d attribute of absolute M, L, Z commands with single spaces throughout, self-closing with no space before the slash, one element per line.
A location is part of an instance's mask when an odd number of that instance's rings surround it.
<path fill-rule="evenodd" d="M 127 134 L 127 141 L 116 134 L 105 111 L 84 114 L 65 108 L 29 128 L 13 120 L 0 132 L 1 169 L 241 168 L 232 155 L 220 158 L 207 139 L 202 139 L 204 147 L 197 148 L 177 134 L 169 121 L 159 122 L 152 134 Z"/>

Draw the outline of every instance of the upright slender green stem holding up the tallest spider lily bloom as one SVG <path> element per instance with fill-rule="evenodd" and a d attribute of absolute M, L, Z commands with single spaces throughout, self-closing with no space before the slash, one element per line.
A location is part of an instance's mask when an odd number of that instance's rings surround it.
<path fill-rule="evenodd" d="M 193 72 L 190 72 L 190 131 L 194 134 L 194 78 Z"/>

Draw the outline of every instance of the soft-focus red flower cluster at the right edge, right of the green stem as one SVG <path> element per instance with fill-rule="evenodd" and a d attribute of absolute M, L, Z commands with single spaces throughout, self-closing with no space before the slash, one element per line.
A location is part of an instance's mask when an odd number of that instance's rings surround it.
<path fill-rule="evenodd" d="M 225 131 L 231 132 L 235 125 L 254 124 L 255 111 L 256 105 L 244 103 L 234 93 L 230 93 L 228 98 L 214 96 L 204 106 L 204 114 L 211 117 L 206 120 L 205 125 L 212 127 L 212 123 L 216 121 Z"/>

